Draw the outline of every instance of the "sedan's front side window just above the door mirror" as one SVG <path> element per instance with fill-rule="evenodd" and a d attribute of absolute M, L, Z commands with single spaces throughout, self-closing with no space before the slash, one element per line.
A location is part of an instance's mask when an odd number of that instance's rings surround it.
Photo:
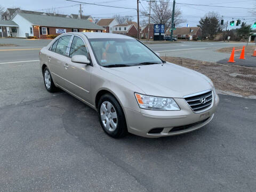
<path fill-rule="evenodd" d="M 85 55 L 86 57 L 88 56 L 88 52 L 84 42 L 81 38 L 77 36 L 74 36 L 73 38 L 69 56 L 73 57 L 74 55 Z"/>

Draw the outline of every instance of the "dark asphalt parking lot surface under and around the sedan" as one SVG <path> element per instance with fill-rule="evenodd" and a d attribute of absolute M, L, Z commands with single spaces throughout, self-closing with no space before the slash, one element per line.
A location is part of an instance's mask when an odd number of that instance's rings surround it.
<path fill-rule="evenodd" d="M 256 100 L 220 95 L 188 134 L 113 139 L 94 110 L 45 90 L 38 61 L 7 52 L 31 50 L 0 51 L 0 191 L 255 190 Z"/>

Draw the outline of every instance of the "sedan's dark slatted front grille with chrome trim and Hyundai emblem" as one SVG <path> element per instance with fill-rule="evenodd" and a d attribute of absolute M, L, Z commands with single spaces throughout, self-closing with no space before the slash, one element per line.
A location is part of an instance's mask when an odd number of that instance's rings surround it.
<path fill-rule="evenodd" d="M 202 112 L 212 105 L 212 91 L 205 91 L 198 94 L 188 95 L 184 97 L 188 105 L 196 113 Z M 200 100 L 205 99 L 205 103 Z"/>

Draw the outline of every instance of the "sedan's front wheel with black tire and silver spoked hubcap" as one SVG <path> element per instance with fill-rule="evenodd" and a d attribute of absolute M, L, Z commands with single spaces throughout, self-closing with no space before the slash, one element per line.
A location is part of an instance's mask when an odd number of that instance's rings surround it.
<path fill-rule="evenodd" d="M 98 104 L 98 117 L 102 129 L 110 137 L 121 138 L 127 134 L 124 112 L 113 95 L 102 95 Z"/>

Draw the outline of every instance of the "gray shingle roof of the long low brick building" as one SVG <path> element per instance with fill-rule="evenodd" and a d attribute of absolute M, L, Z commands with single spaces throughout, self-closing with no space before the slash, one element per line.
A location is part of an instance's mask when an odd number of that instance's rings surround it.
<path fill-rule="evenodd" d="M 103 30 L 102 27 L 96 25 L 93 22 L 90 22 L 89 20 L 84 20 L 84 19 L 53 17 L 53 16 L 47 16 L 47 15 L 36 15 L 36 14 L 27 14 L 27 13 L 18 13 L 18 14 L 36 26 Z"/>

